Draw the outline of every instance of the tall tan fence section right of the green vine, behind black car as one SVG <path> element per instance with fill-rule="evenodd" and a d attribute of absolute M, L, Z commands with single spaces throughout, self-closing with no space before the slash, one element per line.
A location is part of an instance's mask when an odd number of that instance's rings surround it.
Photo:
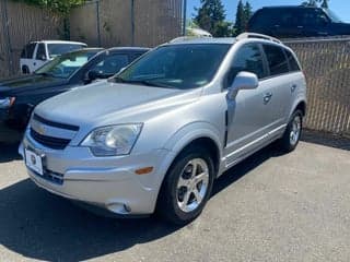
<path fill-rule="evenodd" d="M 77 8 L 71 38 L 90 46 L 154 47 L 182 34 L 183 0 L 101 0 Z"/>

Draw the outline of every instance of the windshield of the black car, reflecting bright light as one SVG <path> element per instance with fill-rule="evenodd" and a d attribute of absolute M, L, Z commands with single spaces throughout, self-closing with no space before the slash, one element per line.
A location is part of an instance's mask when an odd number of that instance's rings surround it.
<path fill-rule="evenodd" d="M 55 58 L 48 63 L 45 63 L 34 73 L 60 79 L 69 79 L 96 53 L 97 50 L 66 53 Z"/>

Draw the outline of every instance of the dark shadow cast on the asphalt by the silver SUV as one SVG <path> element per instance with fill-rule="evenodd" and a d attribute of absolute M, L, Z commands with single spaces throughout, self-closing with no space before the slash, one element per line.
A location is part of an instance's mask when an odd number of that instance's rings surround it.
<path fill-rule="evenodd" d="M 269 146 L 242 162 L 213 188 L 213 195 L 279 153 Z M 37 188 L 30 179 L 0 191 L 0 245 L 25 258 L 82 261 L 154 241 L 179 229 L 155 216 L 98 217 Z"/>

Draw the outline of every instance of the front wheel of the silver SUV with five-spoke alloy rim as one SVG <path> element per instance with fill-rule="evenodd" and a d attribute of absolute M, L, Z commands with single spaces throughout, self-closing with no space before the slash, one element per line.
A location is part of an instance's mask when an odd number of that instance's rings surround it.
<path fill-rule="evenodd" d="M 214 166 L 201 146 L 183 151 L 168 169 L 158 201 L 158 213 L 176 225 L 186 225 L 202 212 L 211 195 Z"/>

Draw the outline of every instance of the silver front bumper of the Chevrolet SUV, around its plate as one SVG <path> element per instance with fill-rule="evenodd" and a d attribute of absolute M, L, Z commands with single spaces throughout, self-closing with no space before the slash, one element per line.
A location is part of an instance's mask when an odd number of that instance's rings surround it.
<path fill-rule="evenodd" d="M 161 182 L 166 172 L 164 159 L 172 152 L 154 150 L 142 155 L 94 157 L 86 147 L 45 148 L 26 133 L 20 146 L 43 156 L 45 176 L 27 169 L 40 188 L 71 200 L 86 202 L 118 215 L 145 215 L 154 212 Z M 148 175 L 135 170 L 154 167 Z"/>

